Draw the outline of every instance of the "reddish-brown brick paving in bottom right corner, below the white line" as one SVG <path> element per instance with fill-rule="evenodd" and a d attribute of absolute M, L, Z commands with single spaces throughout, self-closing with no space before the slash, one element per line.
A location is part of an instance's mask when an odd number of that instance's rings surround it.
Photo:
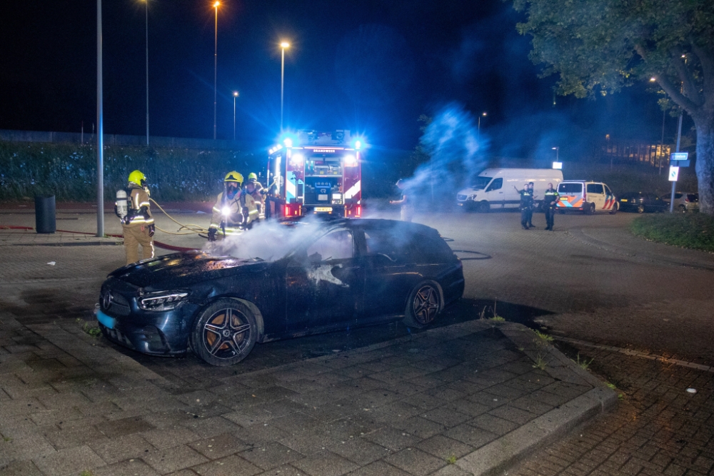
<path fill-rule="evenodd" d="M 593 359 L 622 400 L 608 415 L 573 432 L 513 476 L 714 473 L 714 379 L 706 371 L 592 347 L 569 348 Z M 688 393 L 694 388 L 697 393 Z"/>

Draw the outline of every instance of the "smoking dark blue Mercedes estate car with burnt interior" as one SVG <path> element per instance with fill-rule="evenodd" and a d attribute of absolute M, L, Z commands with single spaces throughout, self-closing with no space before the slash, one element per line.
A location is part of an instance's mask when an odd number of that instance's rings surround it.
<path fill-rule="evenodd" d="M 97 310 L 106 338 L 232 365 L 256 342 L 397 319 L 421 328 L 463 294 L 461 260 L 416 223 L 266 225 L 244 236 L 231 255 L 176 253 L 115 270 Z M 251 245 L 268 239 L 286 252 L 253 255 Z"/>

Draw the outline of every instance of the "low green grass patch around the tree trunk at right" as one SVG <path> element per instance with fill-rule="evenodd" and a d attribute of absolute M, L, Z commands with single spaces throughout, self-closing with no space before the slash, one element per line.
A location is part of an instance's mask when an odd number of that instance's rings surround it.
<path fill-rule="evenodd" d="M 714 217 L 704 213 L 638 216 L 630 223 L 630 231 L 646 240 L 714 252 Z"/>

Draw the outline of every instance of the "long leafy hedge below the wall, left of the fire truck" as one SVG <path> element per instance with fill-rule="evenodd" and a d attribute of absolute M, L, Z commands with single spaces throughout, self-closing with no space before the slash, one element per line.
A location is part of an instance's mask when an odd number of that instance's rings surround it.
<path fill-rule="evenodd" d="M 241 151 L 199 151 L 146 146 L 105 146 L 105 199 L 136 169 L 149 179 L 156 200 L 208 200 L 221 190 L 226 172 L 259 172 L 257 156 Z M 57 201 L 96 199 L 96 148 L 71 143 L 0 141 L 0 200 L 28 200 L 49 193 Z"/>

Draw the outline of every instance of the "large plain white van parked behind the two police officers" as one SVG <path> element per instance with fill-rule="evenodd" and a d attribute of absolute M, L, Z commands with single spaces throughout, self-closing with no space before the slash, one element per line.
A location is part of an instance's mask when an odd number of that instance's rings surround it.
<path fill-rule="evenodd" d="M 543 200 L 548 183 L 558 188 L 563 181 L 563 171 L 553 168 L 487 168 L 471 179 L 471 186 L 456 195 L 456 204 L 477 211 L 518 208 L 521 204 L 519 190 L 523 184 L 533 182 L 535 202 Z"/>

